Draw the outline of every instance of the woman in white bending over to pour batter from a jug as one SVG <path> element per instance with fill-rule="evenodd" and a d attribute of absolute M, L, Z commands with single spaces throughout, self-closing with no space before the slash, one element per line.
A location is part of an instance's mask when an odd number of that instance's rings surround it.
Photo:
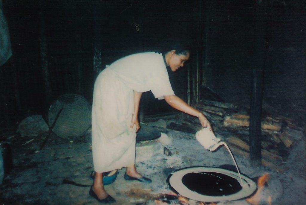
<path fill-rule="evenodd" d="M 166 66 L 174 72 L 189 59 L 187 49 L 175 47 L 164 55 L 157 52 L 126 56 L 107 66 L 97 77 L 92 105 L 92 154 L 95 179 L 89 194 L 102 203 L 114 202 L 103 187 L 103 173 L 126 167 L 125 180 L 150 183 L 135 167 L 136 132 L 141 93 L 151 90 L 155 98 L 211 125 L 199 110 L 177 97 Z M 115 171 L 116 172 L 116 171 Z"/>

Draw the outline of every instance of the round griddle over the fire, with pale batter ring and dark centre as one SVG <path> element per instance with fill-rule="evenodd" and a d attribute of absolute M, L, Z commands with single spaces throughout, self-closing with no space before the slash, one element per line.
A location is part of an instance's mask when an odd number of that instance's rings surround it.
<path fill-rule="evenodd" d="M 217 167 L 187 167 L 170 174 L 170 187 L 189 199 L 202 202 L 238 200 L 252 195 L 256 183 L 241 174 Z"/>

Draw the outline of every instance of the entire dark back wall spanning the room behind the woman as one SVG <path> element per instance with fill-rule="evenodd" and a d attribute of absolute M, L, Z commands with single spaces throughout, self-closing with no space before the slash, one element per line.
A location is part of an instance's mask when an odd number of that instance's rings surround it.
<path fill-rule="evenodd" d="M 248 108 L 251 70 L 264 69 L 265 110 L 303 123 L 305 9 L 302 0 L 3 0 L 13 56 L 0 67 L 1 127 L 45 114 L 65 93 L 91 102 L 105 65 L 172 39 L 188 39 L 193 51 L 186 66 L 170 75 L 184 100 L 196 102 L 196 82 L 205 88 L 200 99 Z M 171 111 L 150 93 L 143 104 L 147 113 Z"/>

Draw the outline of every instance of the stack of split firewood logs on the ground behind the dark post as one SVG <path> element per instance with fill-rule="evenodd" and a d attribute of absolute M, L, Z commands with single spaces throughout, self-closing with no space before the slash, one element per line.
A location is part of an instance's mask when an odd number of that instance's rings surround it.
<path fill-rule="evenodd" d="M 237 106 L 215 101 L 200 101 L 194 107 L 201 110 L 212 124 L 217 137 L 225 141 L 234 154 L 249 157 L 249 115 L 237 111 Z M 289 149 L 295 141 L 304 137 L 303 129 L 297 122 L 283 116 L 265 116 L 262 118 L 262 164 L 276 171 L 286 169 L 285 161 Z M 170 124 L 171 125 L 171 124 Z M 174 124 L 172 124 L 174 126 Z M 182 125 L 191 132 L 201 129 L 199 120 L 184 115 Z M 230 133 L 222 136 L 222 131 Z"/>

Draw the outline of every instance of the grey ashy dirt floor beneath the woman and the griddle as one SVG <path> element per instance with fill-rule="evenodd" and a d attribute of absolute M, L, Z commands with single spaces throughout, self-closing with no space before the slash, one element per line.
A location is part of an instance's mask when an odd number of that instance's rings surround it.
<path fill-rule="evenodd" d="M 165 133 L 166 137 L 163 135 L 163 138 L 154 141 L 138 142 L 136 146 L 136 167 L 153 182 L 143 184 L 125 181 L 125 169 L 119 170 L 116 181 L 105 186 L 107 192 L 116 199 L 113 204 L 155 204 L 154 197 L 152 198 L 154 194 L 170 193 L 166 182 L 169 174 L 184 167 L 207 166 L 235 170 L 226 148 L 221 147 L 216 152 L 205 150 L 194 134 L 165 128 L 170 121 L 149 123 L 149 126 L 155 126 Z M 92 184 L 90 174 L 93 171 L 91 130 L 84 136 L 69 139 L 61 139 L 52 134 L 46 146 L 40 150 L 39 145 L 46 136 L 47 132 L 38 137 L 22 138 L 16 133 L 6 133 L 6 141 L 10 143 L 13 153 L 14 168 L 3 180 L 1 204 L 98 204 L 99 202 L 88 194 Z M 283 173 L 263 166 L 252 167 L 248 158 L 235 155 L 241 173 L 255 181 L 263 174 L 269 173 L 270 179 L 260 193 L 258 204 L 305 204 L 305 148 L 305 138 L 292 146 L 288 160 L 283 163 L 284 168 L 288 169 Z M 64 179 L 88 187 L 64 184 Z M 151 195 L 132 197 L 129 195 L 131 190 L 142 190 Z M 172 204 L 183 203 L 176 201 Z M 189 200 L 188 204 L 199 202 Z M 249 203 L 241 199 L 218 204 Z"/>

